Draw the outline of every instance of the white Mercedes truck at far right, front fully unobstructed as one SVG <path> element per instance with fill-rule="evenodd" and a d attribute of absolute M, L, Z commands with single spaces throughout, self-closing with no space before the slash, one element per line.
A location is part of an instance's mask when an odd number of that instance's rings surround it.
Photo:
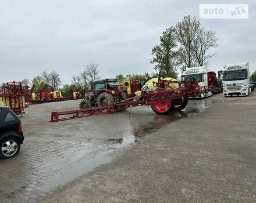
<path fill-rule="evenodd" d="M 229 64 L 223 70 L 223 96 L 249 96 L 249 63 Z"/>

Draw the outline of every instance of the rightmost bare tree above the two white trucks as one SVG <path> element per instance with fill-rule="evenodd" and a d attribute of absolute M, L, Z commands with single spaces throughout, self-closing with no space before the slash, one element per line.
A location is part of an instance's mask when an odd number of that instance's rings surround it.
<path fill-rule="evenodd" d="M 208 50 L 218 46 L 217 41 L 218 37 L 214 31 L 205 30 L 205 28 L 200 29 L 193 42 L 194 55 L 199 66 L 206 66 L 208 64 L 207 59 L 216 55 L 216 53 L 208 53 Z"/>

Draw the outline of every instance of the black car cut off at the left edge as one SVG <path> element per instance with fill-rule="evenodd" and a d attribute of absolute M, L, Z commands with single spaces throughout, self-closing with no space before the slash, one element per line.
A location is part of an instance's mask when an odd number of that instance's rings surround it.
<path fill-rule="evenodd" d="M 9 107 L 0 107 L 0 158 L 12 158 L 23 143 L 22 122 Z"/>

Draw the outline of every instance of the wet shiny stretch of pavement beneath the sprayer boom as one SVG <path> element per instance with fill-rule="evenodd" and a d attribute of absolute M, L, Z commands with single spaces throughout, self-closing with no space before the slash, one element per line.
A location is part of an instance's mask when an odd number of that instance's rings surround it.
<path fill-rule="evenodd" d="M 222 102 L 213 97 L 190 100 L 186 109 L 156 115 L 150 107 L 95 117 L 48 122 L 52 110 L 77 108 L 80 100 L 37 104 L 21 118 L 24 144 L 19 155 L 0 160 L 0 202 L 36 202 L 53 194 L 170 122 L 195 116 Z"/>

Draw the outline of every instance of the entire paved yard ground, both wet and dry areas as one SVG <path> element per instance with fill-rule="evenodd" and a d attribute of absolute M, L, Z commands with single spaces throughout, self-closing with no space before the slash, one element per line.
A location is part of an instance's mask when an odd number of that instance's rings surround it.
<path fill-rule="evenodd" d="M 0 161 L 0 201 L 255 202 L 255 99 L 133 108 L 131 123 L 128 112 L 49 123 L 79 101 L 31 106 L 20 154 Z"/>

